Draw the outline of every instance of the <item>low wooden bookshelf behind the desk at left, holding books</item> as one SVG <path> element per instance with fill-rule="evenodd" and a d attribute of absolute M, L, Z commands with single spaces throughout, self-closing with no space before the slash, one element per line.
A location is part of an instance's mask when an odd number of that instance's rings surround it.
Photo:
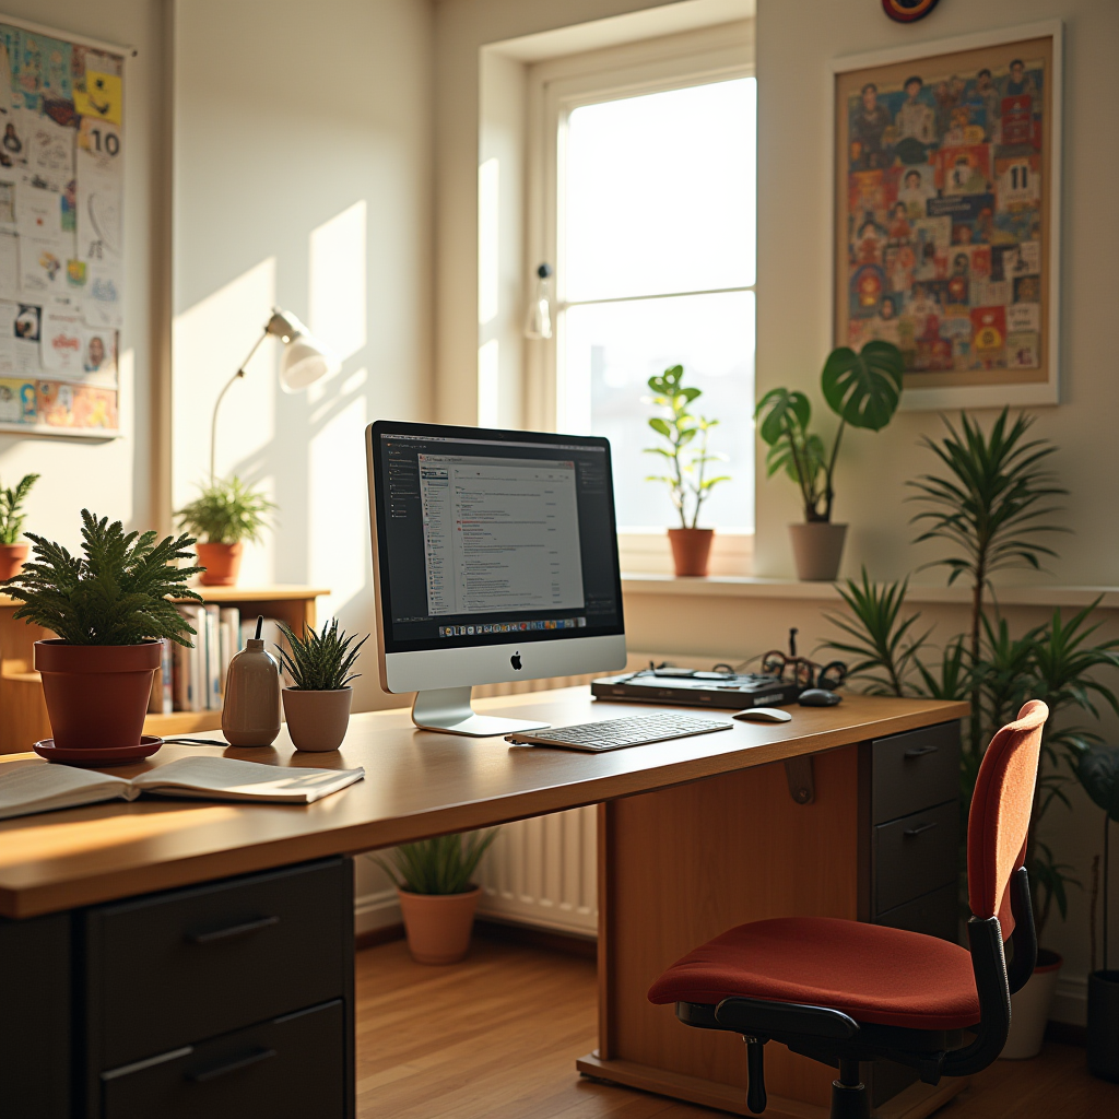
<path fill-rule="evenodd" d="M 313 586 L 196 586 L 205 602 L 236 606 L 245 618 L 264 614 L 286 622 L 297 633 L 316 624 L 316 600 L 329 594 Z M 32 668 L 34 645 L 51 634 L 39 626 L 16 621 L 19 603 L 0 595 L 0 753 L 30 750 L 50 734 L 39 674 Z M 222 726 L 222 712 L 149 714 L 145 734 L 198 734 Z"/>

